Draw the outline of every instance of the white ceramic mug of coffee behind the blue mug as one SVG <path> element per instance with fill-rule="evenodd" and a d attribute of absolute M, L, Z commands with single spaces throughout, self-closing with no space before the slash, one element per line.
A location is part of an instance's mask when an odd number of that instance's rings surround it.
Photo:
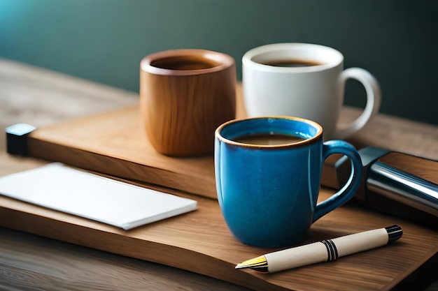
<path fill-rule="evenodd" d="M 344 70 L 341 52 L 323 45 L 276 43 L 249 50 L 242 58 L 242 82 L 248 117 L 267 115 L 311 119 L 324 128 L 324 139 L 344 139 L 379 111 L 379 83 L 367 70 Z M 362 83 L 367 104 L 351 124 L 339 127 L 346 80 Z"/>

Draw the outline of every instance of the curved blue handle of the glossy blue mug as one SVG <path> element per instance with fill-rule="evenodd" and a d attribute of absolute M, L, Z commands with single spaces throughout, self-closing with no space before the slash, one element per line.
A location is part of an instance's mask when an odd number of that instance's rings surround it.
<path fill-rule="evenodd" d="M 329 140 L 324 142 L 322 163 L 332 154 L 343 154 L 350 159 L 351 174 L 346 184 L 340 188 L 337 193 L 334 193 L 330 198 L 316 205 L 312 223 L 350 200 L 356 191 L 358 191 L 360 180 L 362 179 L 362 159 L 355 147 L 344 140 Z"/>

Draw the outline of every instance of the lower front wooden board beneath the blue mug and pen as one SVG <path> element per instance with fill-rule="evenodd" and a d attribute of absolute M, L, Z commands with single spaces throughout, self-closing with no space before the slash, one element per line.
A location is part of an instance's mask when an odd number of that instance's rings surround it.
<path fill-rule="evenodd" d="M 402 239 L 335 262 L 275 274 L 235 270 L 238 262 L 275 249 L 236 241 L 227 230 L 217 200 L 169 192 L 196 199 L 197 211 L 125 231 L 0 196 L 0 225 L 194 271 L 253 290 L 391 290 L 400 282 L 409 281 L 409 276 L 423 264 L 436 265 L 438 261 L 437 232 L 346 206 L 314 223 L 303 244 L 394 223 L 403 228 Z M 328 195 L 330 191 L 323 189 L 321 198 Z"/>

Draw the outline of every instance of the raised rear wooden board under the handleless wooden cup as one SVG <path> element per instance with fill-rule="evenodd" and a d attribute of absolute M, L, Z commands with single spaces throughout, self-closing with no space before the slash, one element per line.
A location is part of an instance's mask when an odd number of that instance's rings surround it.
<path fill-rule="evenodd" d="M 238 117 L 245 114 L 238 112 Z M 27 151 L 36 158 L 216 199 L 213 155 L 173 158 L 157 153 L 137 106 L 37 128 L 27 138 Z M 336 158 L 328 159 L 326 167 Z M 325 177 L 335 178 L 332 172 Z"/>

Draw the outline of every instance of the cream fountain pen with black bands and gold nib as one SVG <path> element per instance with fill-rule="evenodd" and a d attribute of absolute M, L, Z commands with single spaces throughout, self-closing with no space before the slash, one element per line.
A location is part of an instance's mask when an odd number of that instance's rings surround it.
<path fill-rule="evenodd" d="M 313 244 L 267 253 L 237 264 L 236 269 L 253 269 L 274 273 L 318 262 L 330 262 L 345 255 L 386 246 L 400 239 L 402 234 L 402 227 L 398 225 L 348 234 L 336 239 L 325 239 Z"/>

